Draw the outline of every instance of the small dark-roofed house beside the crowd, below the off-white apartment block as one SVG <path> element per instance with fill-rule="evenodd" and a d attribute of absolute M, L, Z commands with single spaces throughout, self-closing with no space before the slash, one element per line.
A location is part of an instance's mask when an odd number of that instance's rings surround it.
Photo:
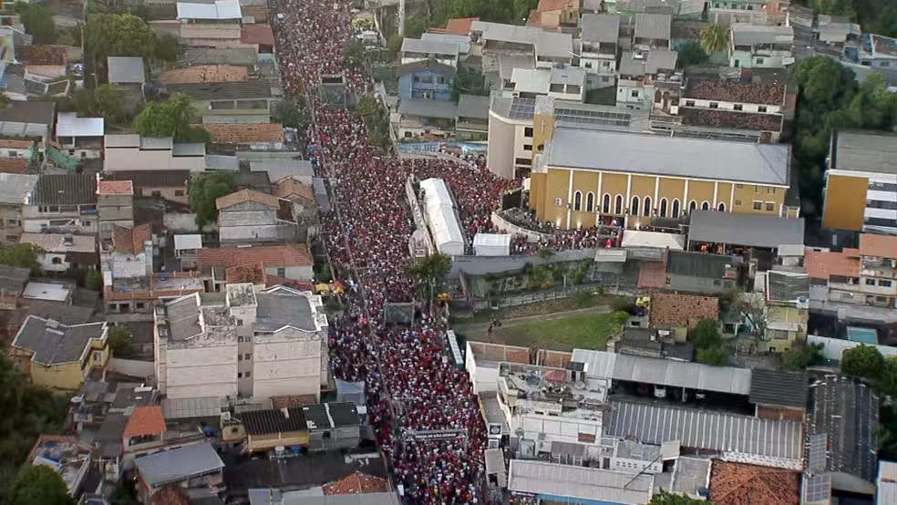
<path fill-rule="evenodd" d="M 354 403 L 309 405 L 303 411 L 309 451 L 355 448 L 361 442 L 361 417 Z"/>

